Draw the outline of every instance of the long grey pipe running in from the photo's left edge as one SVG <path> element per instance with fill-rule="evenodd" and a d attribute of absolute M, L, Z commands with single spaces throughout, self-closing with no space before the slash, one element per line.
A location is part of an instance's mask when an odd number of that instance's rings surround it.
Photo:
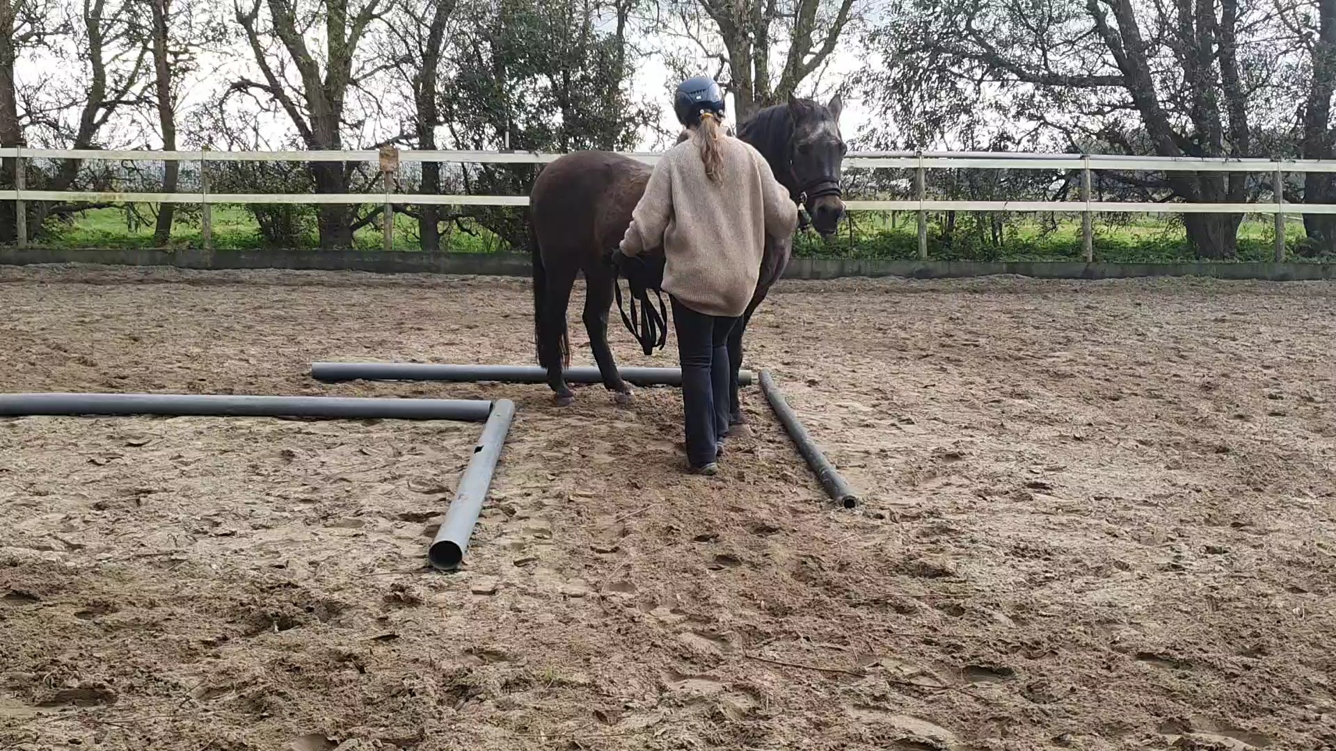
<path fill-rule="evenodd" d="M 331 420 L 488 418 L 485 400 L 254 397 L 231 394 L 0 394 L 0 416 L 170 414 L 195 417 L 323 417 Z"/>

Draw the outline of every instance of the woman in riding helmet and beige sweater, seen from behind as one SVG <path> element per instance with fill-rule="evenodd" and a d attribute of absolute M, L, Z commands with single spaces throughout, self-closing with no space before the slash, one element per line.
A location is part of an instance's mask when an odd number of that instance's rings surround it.
<path fill-rule="evenodd" d="M 794 234 L 798 207 L 760 152 L 723 132 L 724 95 L 712 79 L 679 84 L 673 108 L 691 138 L 655 166 L 620 250 L 635 257 L 663 249 L 687 461 L 715 474 L 728 433 L 728 334 L 756 291 L 766 235 Z"/>

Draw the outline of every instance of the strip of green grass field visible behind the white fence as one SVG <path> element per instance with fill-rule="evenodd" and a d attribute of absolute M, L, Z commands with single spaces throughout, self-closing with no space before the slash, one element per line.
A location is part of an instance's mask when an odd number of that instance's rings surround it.
<path fill-rule="evenodd" d="M 139 215 L 124 208 L 98 208 L 72 215 L 68 222 L 53 227 L 37 245 L 67 249 L 130 249 L 152 247 L 152 223 L 148 207 Z M 148 222 L 144 218 L 150 219 Z M 1066 215 L 1055 223 L 1041 223 L 1033 216 L 1013 216 L 994 241 L 987 227 L 981 229 L 973 216 L 961 215 L 957 229 L 947 235 L 943 218 L 929 218 L 929 258 L 951 261 L 1079 261 L 1081 220 Z M 214 247 L 220 250 L 263 249 L 263 238 L 254 216 L 242 206 L 215 206 L 212 208 Z M 402 214 L 395 215 L 394 250 L 420 251 L 417 222 Z M 1273 258 L 1273 223 L 1271 218 L 1249 216 L 1238 231 L 1237 261 L 1271 261 Z M 314 216 L 303 222 L 301 247 L 318 247 Z M 382 247 L 378 223 L 358 230 L 354 243 L 361 250 Z M 1336 261 L 1333 257 L 1300 258 L 1303 223 L 1293 218 L 1287 229 L 1287 245 L 1293 261 Z M 887 214 L 858 212 L 836 238 L 823 242 L 812 233 L 803 233 L 795 243 L 800 257 L 826 258 L 883 258 L 912 259 L 918 257 L 918 230 L 912 212 Z M 442 226 L 442 250 L 453 253 L 498 253 L 509 250 L 506 243 L 488 230 L 464 223 Z M 203 247 L 198 208 L 191 207 L 178 216 L 168 247 Z M 522 249 L 517 249 L 522 250 Z M 1096 261 L 1145 263 L 1194 261 L 1181 223 L 1173 216 L 1097 218 Z"/>

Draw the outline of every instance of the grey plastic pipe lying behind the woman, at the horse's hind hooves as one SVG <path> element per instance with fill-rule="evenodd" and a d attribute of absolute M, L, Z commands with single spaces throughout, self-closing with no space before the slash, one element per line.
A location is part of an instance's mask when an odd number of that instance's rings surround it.
<path fill-rule="evenodd" d="M 681 386 L 680 367 L 619 367 L 621 378 L 637 386 Z M 568 384 L 601 384 L 597 367 L 562 370 Z M 422 362 L 313 362 L 317 381 L 498 381 L 506 384 L 546 384 L 548 370 L 537 365 L 436 365 Z M 749 386 L 756 380 L 741 370 L 737 382 Z"/>

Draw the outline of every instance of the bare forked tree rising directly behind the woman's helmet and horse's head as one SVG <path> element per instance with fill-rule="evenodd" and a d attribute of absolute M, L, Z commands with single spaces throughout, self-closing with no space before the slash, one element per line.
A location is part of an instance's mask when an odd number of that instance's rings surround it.
<path fill-rule="evenodd" d="M 822 69 L 854 19 L 855 0 L 672 0 L 668 8 L 692 44 L 728 71 L 743 122 L 787 102 Z M 776 47 L 787 47 L 779 71 L 771 68 Z"/>

